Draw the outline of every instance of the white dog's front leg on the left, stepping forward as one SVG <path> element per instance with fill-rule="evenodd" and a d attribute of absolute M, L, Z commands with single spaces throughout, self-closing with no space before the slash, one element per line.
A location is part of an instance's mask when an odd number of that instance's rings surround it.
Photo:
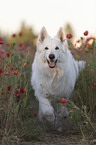
<path fill-rule="evenodd" d="M 41 97 L 39 98 L 39 119 L 42 121 L 46 119 L 47 121 L 54 123 L 54 109 L 51 106 L 48 98 Z"/>

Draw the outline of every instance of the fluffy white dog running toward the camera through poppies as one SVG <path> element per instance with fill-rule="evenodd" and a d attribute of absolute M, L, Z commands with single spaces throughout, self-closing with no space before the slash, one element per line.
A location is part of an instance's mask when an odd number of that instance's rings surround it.
<path fill-rule="evenodd" d="M 68 49 L 63 28 L 55 38 L 50 38 L 45 27 L 41 29 L 37 41 L 37 51 L 32 65 L 31 84 L 39 101 L 39 118 L 45 117 L 59 125 L 62 118 L 68 115 L 64 105 L 55 114 L 51 101 L 58 98 L 69 99 L 79 71 L 84 69 L 85 61 L 75 61 Z M 61 118 L 61 119 L 59 119 Z M 61 130 L 61 125 L 59 126 Z"/>

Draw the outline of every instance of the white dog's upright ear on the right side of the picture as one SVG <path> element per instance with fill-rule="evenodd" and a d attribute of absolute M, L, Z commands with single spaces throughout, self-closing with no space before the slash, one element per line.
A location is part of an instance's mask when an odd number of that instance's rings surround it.
<path fill-rule="evenodd" d="M 59 41 L 63 43 L 66 46 L 66 48 L 68 48 L 68 42 L 62 27 L 60 27 L 59 31 L 57 32 L 56 38 L 59 39 Z"/>

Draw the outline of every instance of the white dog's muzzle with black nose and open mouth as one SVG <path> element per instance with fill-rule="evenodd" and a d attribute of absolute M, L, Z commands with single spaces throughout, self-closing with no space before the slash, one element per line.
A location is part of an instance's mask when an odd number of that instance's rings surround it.
<path fill-rule="evenodd" d="M 55 55 L 54 54 L 50 54 L 49 58 L 47 59 L 48 65 L 50 68 L 54 68 L 56 66 L 57 63 L 57 59 L 55 60 Z"/>

